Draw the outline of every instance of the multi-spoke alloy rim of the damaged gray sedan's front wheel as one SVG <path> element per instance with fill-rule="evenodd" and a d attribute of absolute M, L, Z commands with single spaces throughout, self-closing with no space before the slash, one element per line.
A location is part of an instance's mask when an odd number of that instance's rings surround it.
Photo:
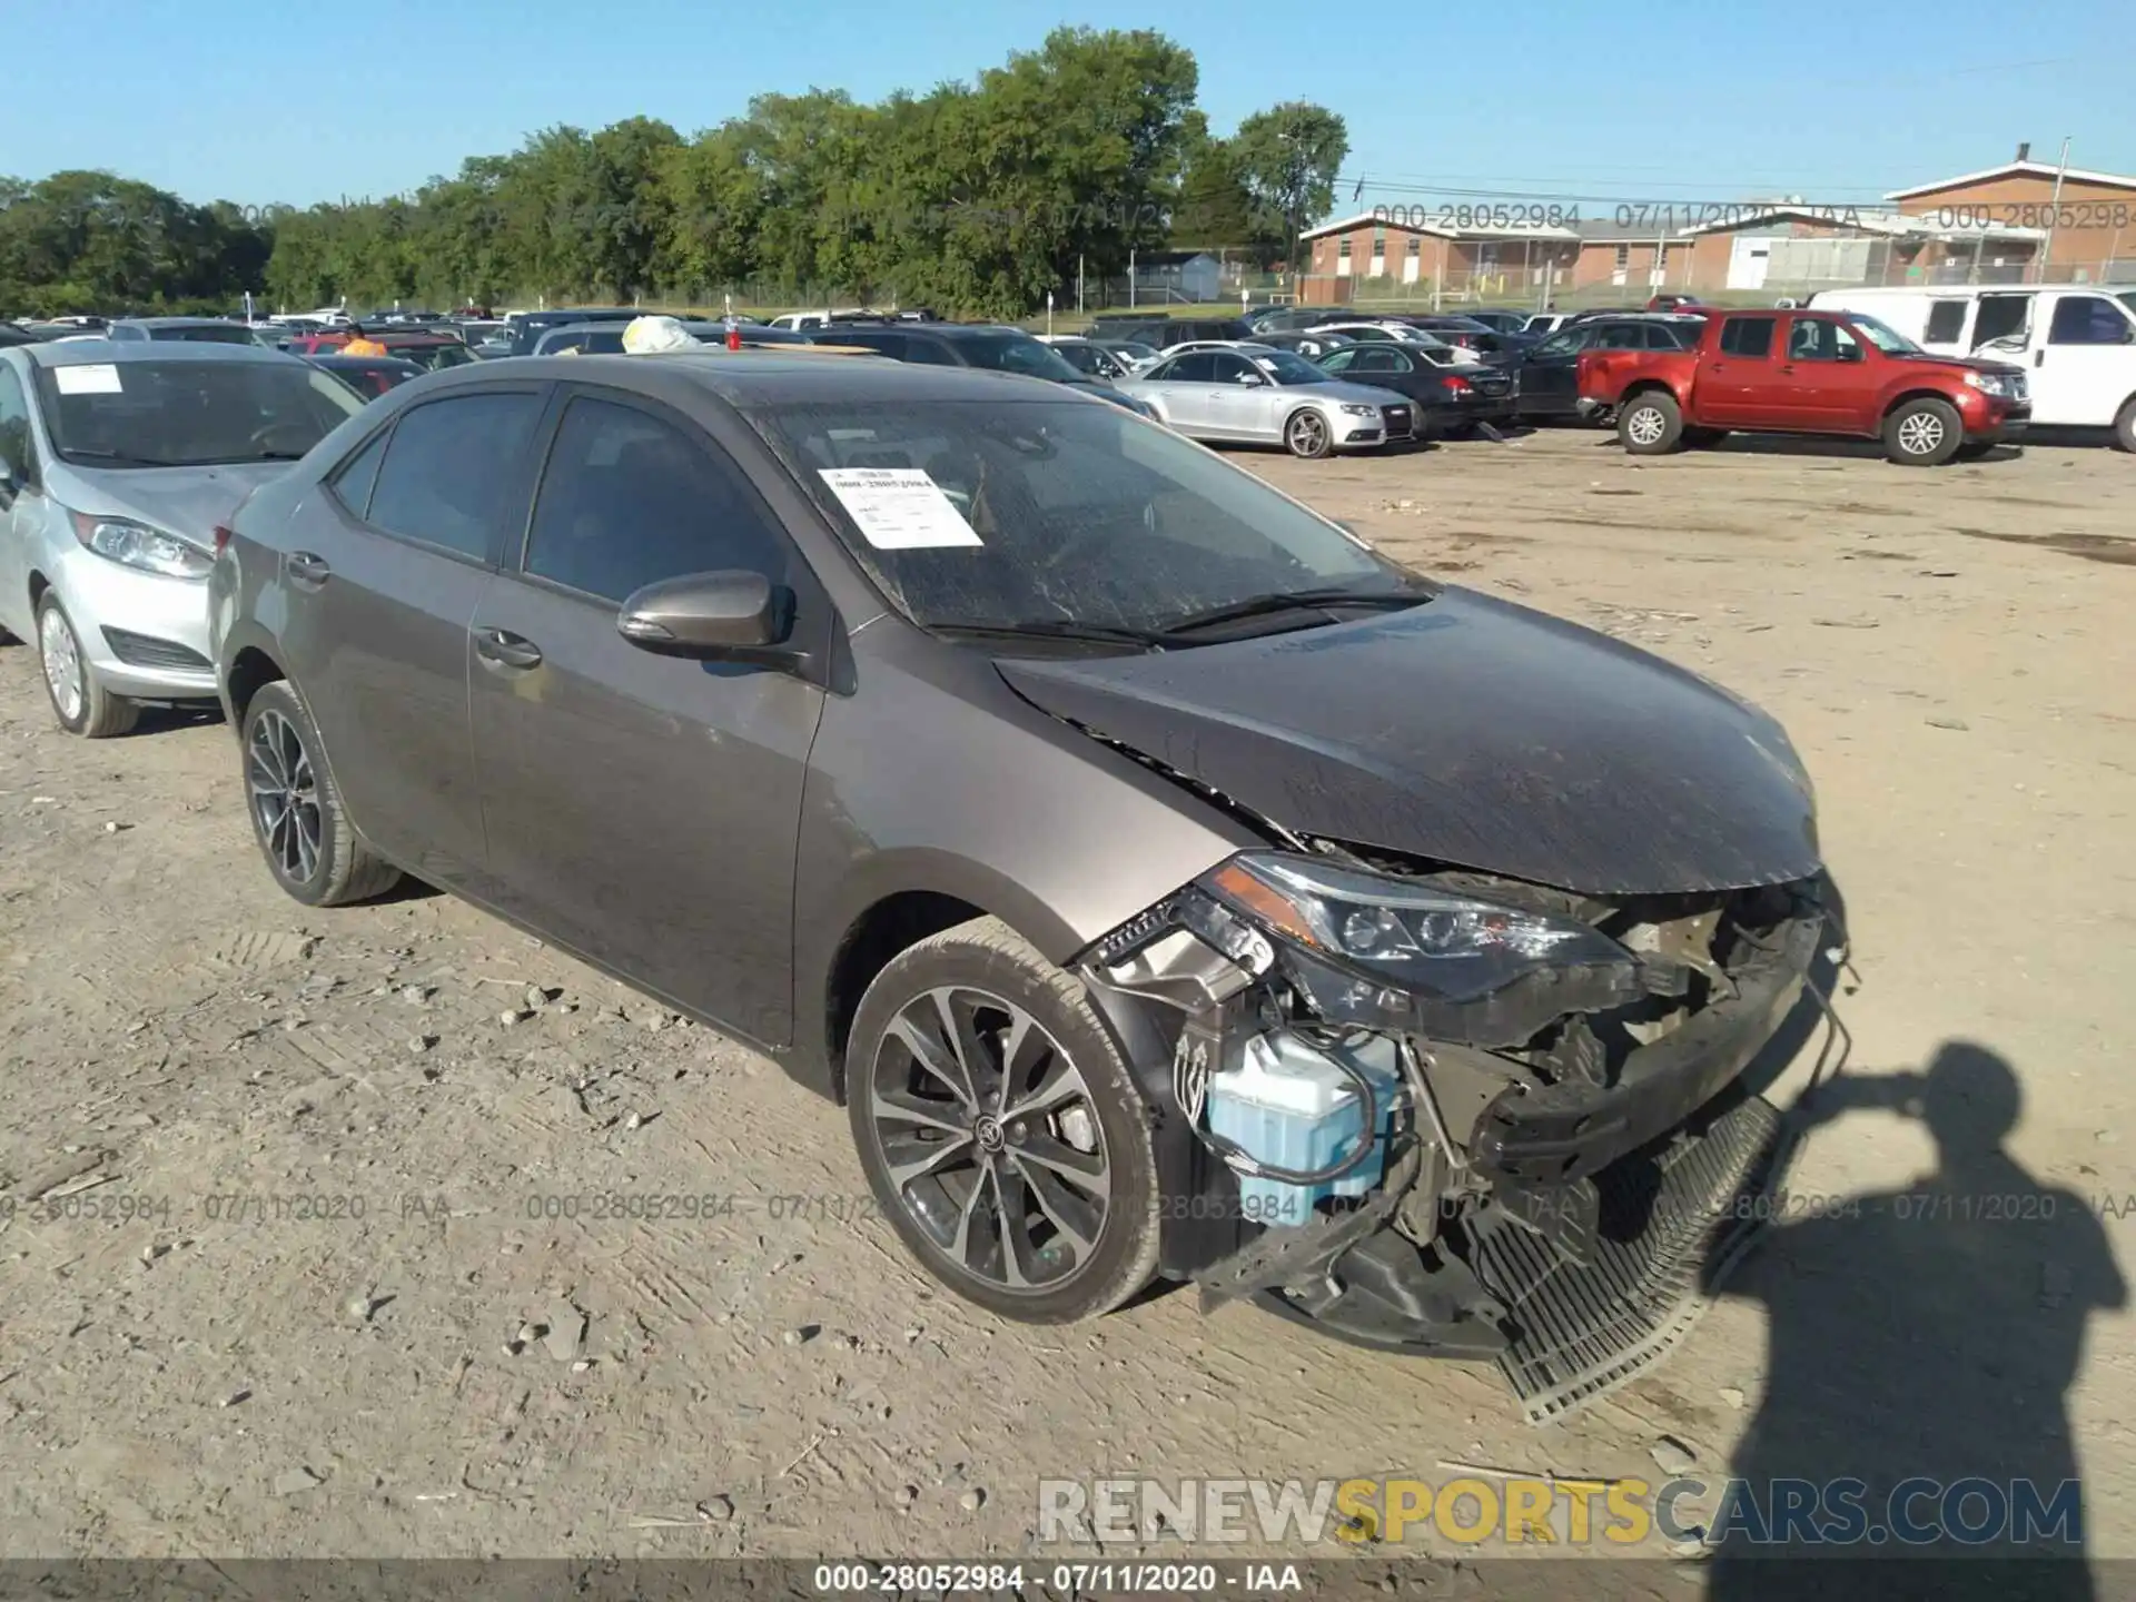
<path fill-rule="evenodd" d="M 929 989 L 891 1019 L 867 1079 L 891 1190 L 951 1265 L 1053 1290 L 1104 1239 L 1113 1168 L 1081 1070 L 1000 995 Z"/>

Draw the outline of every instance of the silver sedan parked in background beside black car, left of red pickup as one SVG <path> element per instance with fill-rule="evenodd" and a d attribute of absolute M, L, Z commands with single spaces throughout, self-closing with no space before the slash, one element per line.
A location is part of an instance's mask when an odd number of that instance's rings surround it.
<path fill-rule="evenodd" d="M 1294 457 L 1324 457 L 1416 434 L 1408 397 L 1339 382 L 1305 357 L 1252 342 L 1166 352 L 1119 387 L 1190 440 L 1211 444 L 1282 444 Z"/>

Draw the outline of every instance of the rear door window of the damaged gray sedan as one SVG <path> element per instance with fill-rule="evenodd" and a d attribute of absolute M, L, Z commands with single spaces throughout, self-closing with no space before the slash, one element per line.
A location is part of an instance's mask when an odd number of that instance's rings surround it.
<path fill-rule="evenodd" d="M 453 395 L 402 412 L 365 521 L 487 562 L 538 414 L 538 395 Z"/>

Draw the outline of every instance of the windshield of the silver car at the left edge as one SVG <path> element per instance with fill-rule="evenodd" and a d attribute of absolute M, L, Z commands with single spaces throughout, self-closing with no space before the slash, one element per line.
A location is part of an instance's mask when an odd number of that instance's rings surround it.
<path fill-rule="evenodd" d="M 115 361 L 36 376 L 51 449 L 77 468 L 295 461 L 363 402 L 312 365 Z"/>

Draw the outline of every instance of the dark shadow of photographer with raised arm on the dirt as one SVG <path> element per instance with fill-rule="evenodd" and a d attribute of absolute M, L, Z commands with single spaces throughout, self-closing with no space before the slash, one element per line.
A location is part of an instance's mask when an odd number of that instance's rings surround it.
<path fill-rule="evenodd" d="M 2063 1482 L 2078 1478 L 2063 1397 L 2078 1373 L 2085 1322 L 2093 1309 L 2121 1307 L 2127 1286 L 2091 1198 L 2040 1183 L 2004 1149 L 2021 1104 L 2004 1057 L 1954 1040 L 1920 1074 L 1841 1074 L 1790 1117 L 1801 1132 L 1850 1109 L 1916 1115 L 1935 1136 L 1937 1166 L 1882 1194 L 1796 1192 L 1790 1222 L 1771 1228 L 1722 1286 L 1726 1297 L 1762 1303 L 1771 1331 L 1766 1391 L 1730 1474 L 1756 1487 L 1766 1514 L 1773 1480 L 1863 1480 L 1871 1534 L 1843 1549 L 1784 1540 L 1788 1532 L 1760 1532 L 1756 1517 L 1724 1502 L 1711 1527 L 1709 1596 L 1771 1596 L 1781 1576 L 1760 1559 L 1805 1555 L 2027 1559 L 2023 1570 L 1935 1564 L 1933 1581 L 1918 1564 L 1873 1564 L 1837 1581 L 1848 1596 L 2016 1602 L 2093 1593 L 2080 1561 L 2083 1523 L 2036 1532 L 2029 1544 L 2012 1544 L 2010 1529 L 1980 1544 L 1873 1534 L 1905 1480 L 1942 1489 L 1978 1478 L 1997 1493 L 2029 1480 L 2038 1502 L 2053 1506 Z M 1939 1495 L 1916 1495 L 1907 1512 L 1918 1534 L 1950 1510 Z M 1974 1529 L 1991 1512 L 1980 1495 L 1957 1510 Z M 2085 1519 L 2095 1514 L 2083 1508 Z M 1792 1579 L 1813 1581 L 1813 1570 Z"/>

